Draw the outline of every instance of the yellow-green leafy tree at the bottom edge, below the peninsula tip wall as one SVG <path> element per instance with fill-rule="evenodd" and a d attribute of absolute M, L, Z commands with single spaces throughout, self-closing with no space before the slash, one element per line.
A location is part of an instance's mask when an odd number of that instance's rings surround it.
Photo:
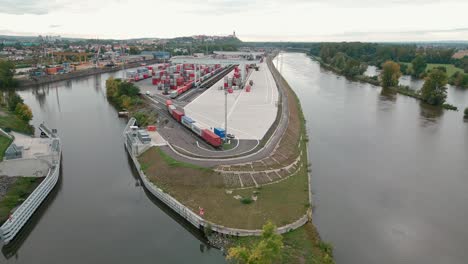
<path fill-rule="evenodd" d="M 281 259 L 283 237 L 276 233 L 276 226 L 267 222 L 263 226 L 260 241 L 251 248 L 243 246 L 232 247 L 228 251 L 228 259 L 245 264 L 270 264 Z"/>

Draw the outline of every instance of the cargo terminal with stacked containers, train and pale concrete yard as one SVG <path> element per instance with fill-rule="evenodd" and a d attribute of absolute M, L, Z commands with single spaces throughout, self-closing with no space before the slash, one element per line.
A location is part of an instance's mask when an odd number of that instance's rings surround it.
<path fill-rule="evenodd" d="M 174 149 L 207 157 L 240 155 L 258 147 L 278 113 L 278 89 L 263 56 L 179 56 L 127 77 L 168 122 L 158 125 L 158 133 Z M 233 146 L 223 149 L 226 141 Z"/>

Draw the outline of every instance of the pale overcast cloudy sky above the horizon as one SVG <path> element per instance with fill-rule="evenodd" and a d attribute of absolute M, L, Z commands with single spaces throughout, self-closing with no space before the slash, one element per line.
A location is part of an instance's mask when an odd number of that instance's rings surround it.
<path fill-rule="evenodd" d="M 468 0 L 0 0 L 0 35 L 468 40 Z"/>

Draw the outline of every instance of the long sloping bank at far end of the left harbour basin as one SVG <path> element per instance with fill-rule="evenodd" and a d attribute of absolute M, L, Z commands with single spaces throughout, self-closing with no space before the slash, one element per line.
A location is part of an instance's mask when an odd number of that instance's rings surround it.
<path fill-rule="evenodd" d="M 157 62 L 158 60 L 131 62 L 131 63 L 125 64 L 125 69 L 138 67 L 142 63 L 153 64 Z M 122 70 L 121 67 L 91 68 L 91 69 L 79 70 L 79 71 L 74 71 L 74 72 L 65 73 L 65 74 L 30 77 L 28 79 L 18 79 L 18 86 L 21 88 L 31 87 L 31 86 L 66 81 L 66 80 L 71 80 L 75 78 L 86 77 L 86 76 L 91 76 L 91 75 L 96 75 L 96 74 L 116 72 L 120 70 Z"/>

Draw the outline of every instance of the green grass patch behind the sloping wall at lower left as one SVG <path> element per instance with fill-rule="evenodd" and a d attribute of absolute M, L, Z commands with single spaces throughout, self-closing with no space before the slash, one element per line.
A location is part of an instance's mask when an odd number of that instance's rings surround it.
<path fill-rule="evenodd" d="M 43 179 L 37 177 L 18 177 L 8 187 L 5 196 L 0 197 L 0 224 L 8 220 L 11 210 L 26 200 Z"/>

